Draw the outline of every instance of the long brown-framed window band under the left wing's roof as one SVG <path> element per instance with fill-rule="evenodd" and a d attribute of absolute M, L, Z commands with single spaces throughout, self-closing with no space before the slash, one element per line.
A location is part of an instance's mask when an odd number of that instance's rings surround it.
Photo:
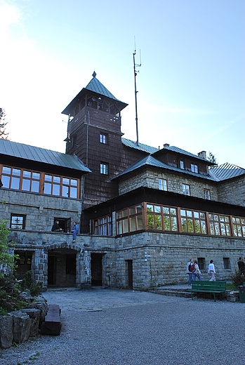
<path fill-rule="evenodd" d="M 20 190 L 22 192 L 35 192 L 37 194 L 56 195 L 58 197 L 79 197 L 79 180 L 58 175 L 49 175 L 44 172 L 24 170 L 0 165 L 0 174 L 3 187 L 6 189 Z M 41 183 L 43 182 L 43 183 Z"/>

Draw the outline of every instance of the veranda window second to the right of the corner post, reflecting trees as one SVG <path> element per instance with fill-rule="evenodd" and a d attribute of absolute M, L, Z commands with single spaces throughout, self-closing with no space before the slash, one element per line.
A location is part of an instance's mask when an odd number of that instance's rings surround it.
<path fill-rule="evenodd" d="M 180 209 L 182 232 L 206 234 L 206 216 L 204 212 Z"/>

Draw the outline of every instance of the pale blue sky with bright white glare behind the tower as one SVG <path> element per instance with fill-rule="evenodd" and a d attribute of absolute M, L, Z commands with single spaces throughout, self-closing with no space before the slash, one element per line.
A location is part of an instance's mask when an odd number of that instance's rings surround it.
<path fill-rule="evenodd" d="M 245 168 L 244 0 L 0 0 L 9 138 L 65 152 L 62 110 L 92 79 L 128 103 L 124 137 Z"/>

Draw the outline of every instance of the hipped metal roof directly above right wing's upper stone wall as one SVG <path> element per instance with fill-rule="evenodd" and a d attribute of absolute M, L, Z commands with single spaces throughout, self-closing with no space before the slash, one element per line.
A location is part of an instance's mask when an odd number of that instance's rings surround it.
<path fill-rule="evenodd" d="M 158 159 L 155 159 L 152 155 L 149 155 L 147 157 L 144 157 L 143 159 L 140 159 L 139 161 L 135 162 L 132 166 L 126 168 L 122 173 L 117 175 L 115 178 L 119 178 L 122 175 L 126 175 L 126 173 L 130 173 L 132 171 L 137 170 L 138 168 L 141 168 L 143 166 L 154 166 L 157 168 L 164 168 L 165 170 L 171 170 L 171 171 L 178 171 L 181 173 L 186 173 L 187 175 L 195 176 L 196 178 L 204 178 L 207 180 L 213 180 L 216 181 L 216 178 L 213 175 L 203 175 L 201 173 L 194 173 L 192 171 L 182 170 L 181 168 L 177 168 L 174 166 L 170 166 L 167 164 L 164 164 L 164 162 L 159 161 Z"/>

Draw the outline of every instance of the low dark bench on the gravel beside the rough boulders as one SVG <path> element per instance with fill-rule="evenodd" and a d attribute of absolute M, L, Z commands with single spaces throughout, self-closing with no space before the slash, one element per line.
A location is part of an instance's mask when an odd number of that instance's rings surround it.
<path fill-rule="evenodd" d="M 42 335 L 59 336 L 61 329 L 60 307 L 57 304 L 48 305 L 44 323 L 41 325 Z"/>

